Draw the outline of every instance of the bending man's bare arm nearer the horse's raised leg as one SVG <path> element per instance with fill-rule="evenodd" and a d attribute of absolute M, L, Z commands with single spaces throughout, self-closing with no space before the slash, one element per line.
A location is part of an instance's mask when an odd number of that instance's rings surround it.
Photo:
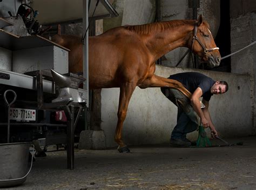
<path fill-rule="evenodd" d="M 205 128 L 209 126 L 208 120 L 205 117 L 204 112 L 201 110 L 200 100 L 199 98 L 203 95 L 203 91 L 200 87 L 197 87 L 197 89 L 194 91 L 194 93 L 191 96 L 191 105 L 193 107 L 193 110 L 198 114 L 198 116 L 201 119 L 201 123 Z"/>

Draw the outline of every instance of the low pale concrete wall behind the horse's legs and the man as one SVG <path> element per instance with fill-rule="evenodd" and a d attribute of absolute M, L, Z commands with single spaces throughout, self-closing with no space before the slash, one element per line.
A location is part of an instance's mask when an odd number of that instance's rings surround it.
<path fill-rule="evenodd" d="M 252 134 L 249 76 L 164 66 L 157 66 L 156 74 L 169 77 L 170 74 L 186 71 L 199 71 L 215 80 L 226 80 L 230 84 L 227 93 L 214 95 L 210 101 L 212 120 L 221 137 Z M 117 124 L 118 99 L 119 89 L 102 89 L 102 130 L 106 135 L 107 147 L 116 146 L 114 131 Z M 176 118 L 177 107 L 165 98 L 159 88 L 142 90 L 136 87 L 124 122 L 123 139 L 128 145 L 168 142 L 176 125 Z M 188 137 L 195 140 L 198 132 L 193 132 Z"/>

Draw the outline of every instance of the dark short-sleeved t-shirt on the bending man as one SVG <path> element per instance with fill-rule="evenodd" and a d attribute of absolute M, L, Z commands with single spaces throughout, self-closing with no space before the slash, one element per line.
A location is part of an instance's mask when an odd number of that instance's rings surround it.
<path fill-rule="evenodd" d="M 213 95 L 210 90 L 211 87 L 214 85 L 215 81 L 199 72 L 183 72 L 173 74 L 169 78 L 178 80 L 191 93 L 193 93 L 197 89 L 197 87 L 200 87 L 203 92 L 202 97 L 206 101 L 209 101 L 211 99 L 211 96 Z"/>

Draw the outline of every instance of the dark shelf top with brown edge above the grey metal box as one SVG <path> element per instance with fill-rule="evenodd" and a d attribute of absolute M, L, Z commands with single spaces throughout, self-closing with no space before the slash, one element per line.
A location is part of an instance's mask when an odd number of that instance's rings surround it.
<path fill-rule="evenodd" d="M 15 51 L 52 45 L 58 46 L 66 51 L 70 51 L 69 49 L 39 35 L 21 37 L 0 29 L 0 47 L 5 49 Z"/>

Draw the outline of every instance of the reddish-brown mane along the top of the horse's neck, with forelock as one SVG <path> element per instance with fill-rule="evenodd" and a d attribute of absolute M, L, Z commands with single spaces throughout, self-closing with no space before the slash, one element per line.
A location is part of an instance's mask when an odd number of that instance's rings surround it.
<path fill-rule="evenodd" d="M 141 35 L 147 35 L 153 31 L 163 31 L 171 28 L 175 28 L 181 25 L 193 25 L 195 22 L 192 20 L 175 20 L 175 21 L 166 21 L 166 22 L 156 22 L 143 25 L 125 25 L 124 28 L 130 31 L 134 31 Z M 210 29 L 210 26 L 207 22 L 204 21 L 207 28 Z"/>

